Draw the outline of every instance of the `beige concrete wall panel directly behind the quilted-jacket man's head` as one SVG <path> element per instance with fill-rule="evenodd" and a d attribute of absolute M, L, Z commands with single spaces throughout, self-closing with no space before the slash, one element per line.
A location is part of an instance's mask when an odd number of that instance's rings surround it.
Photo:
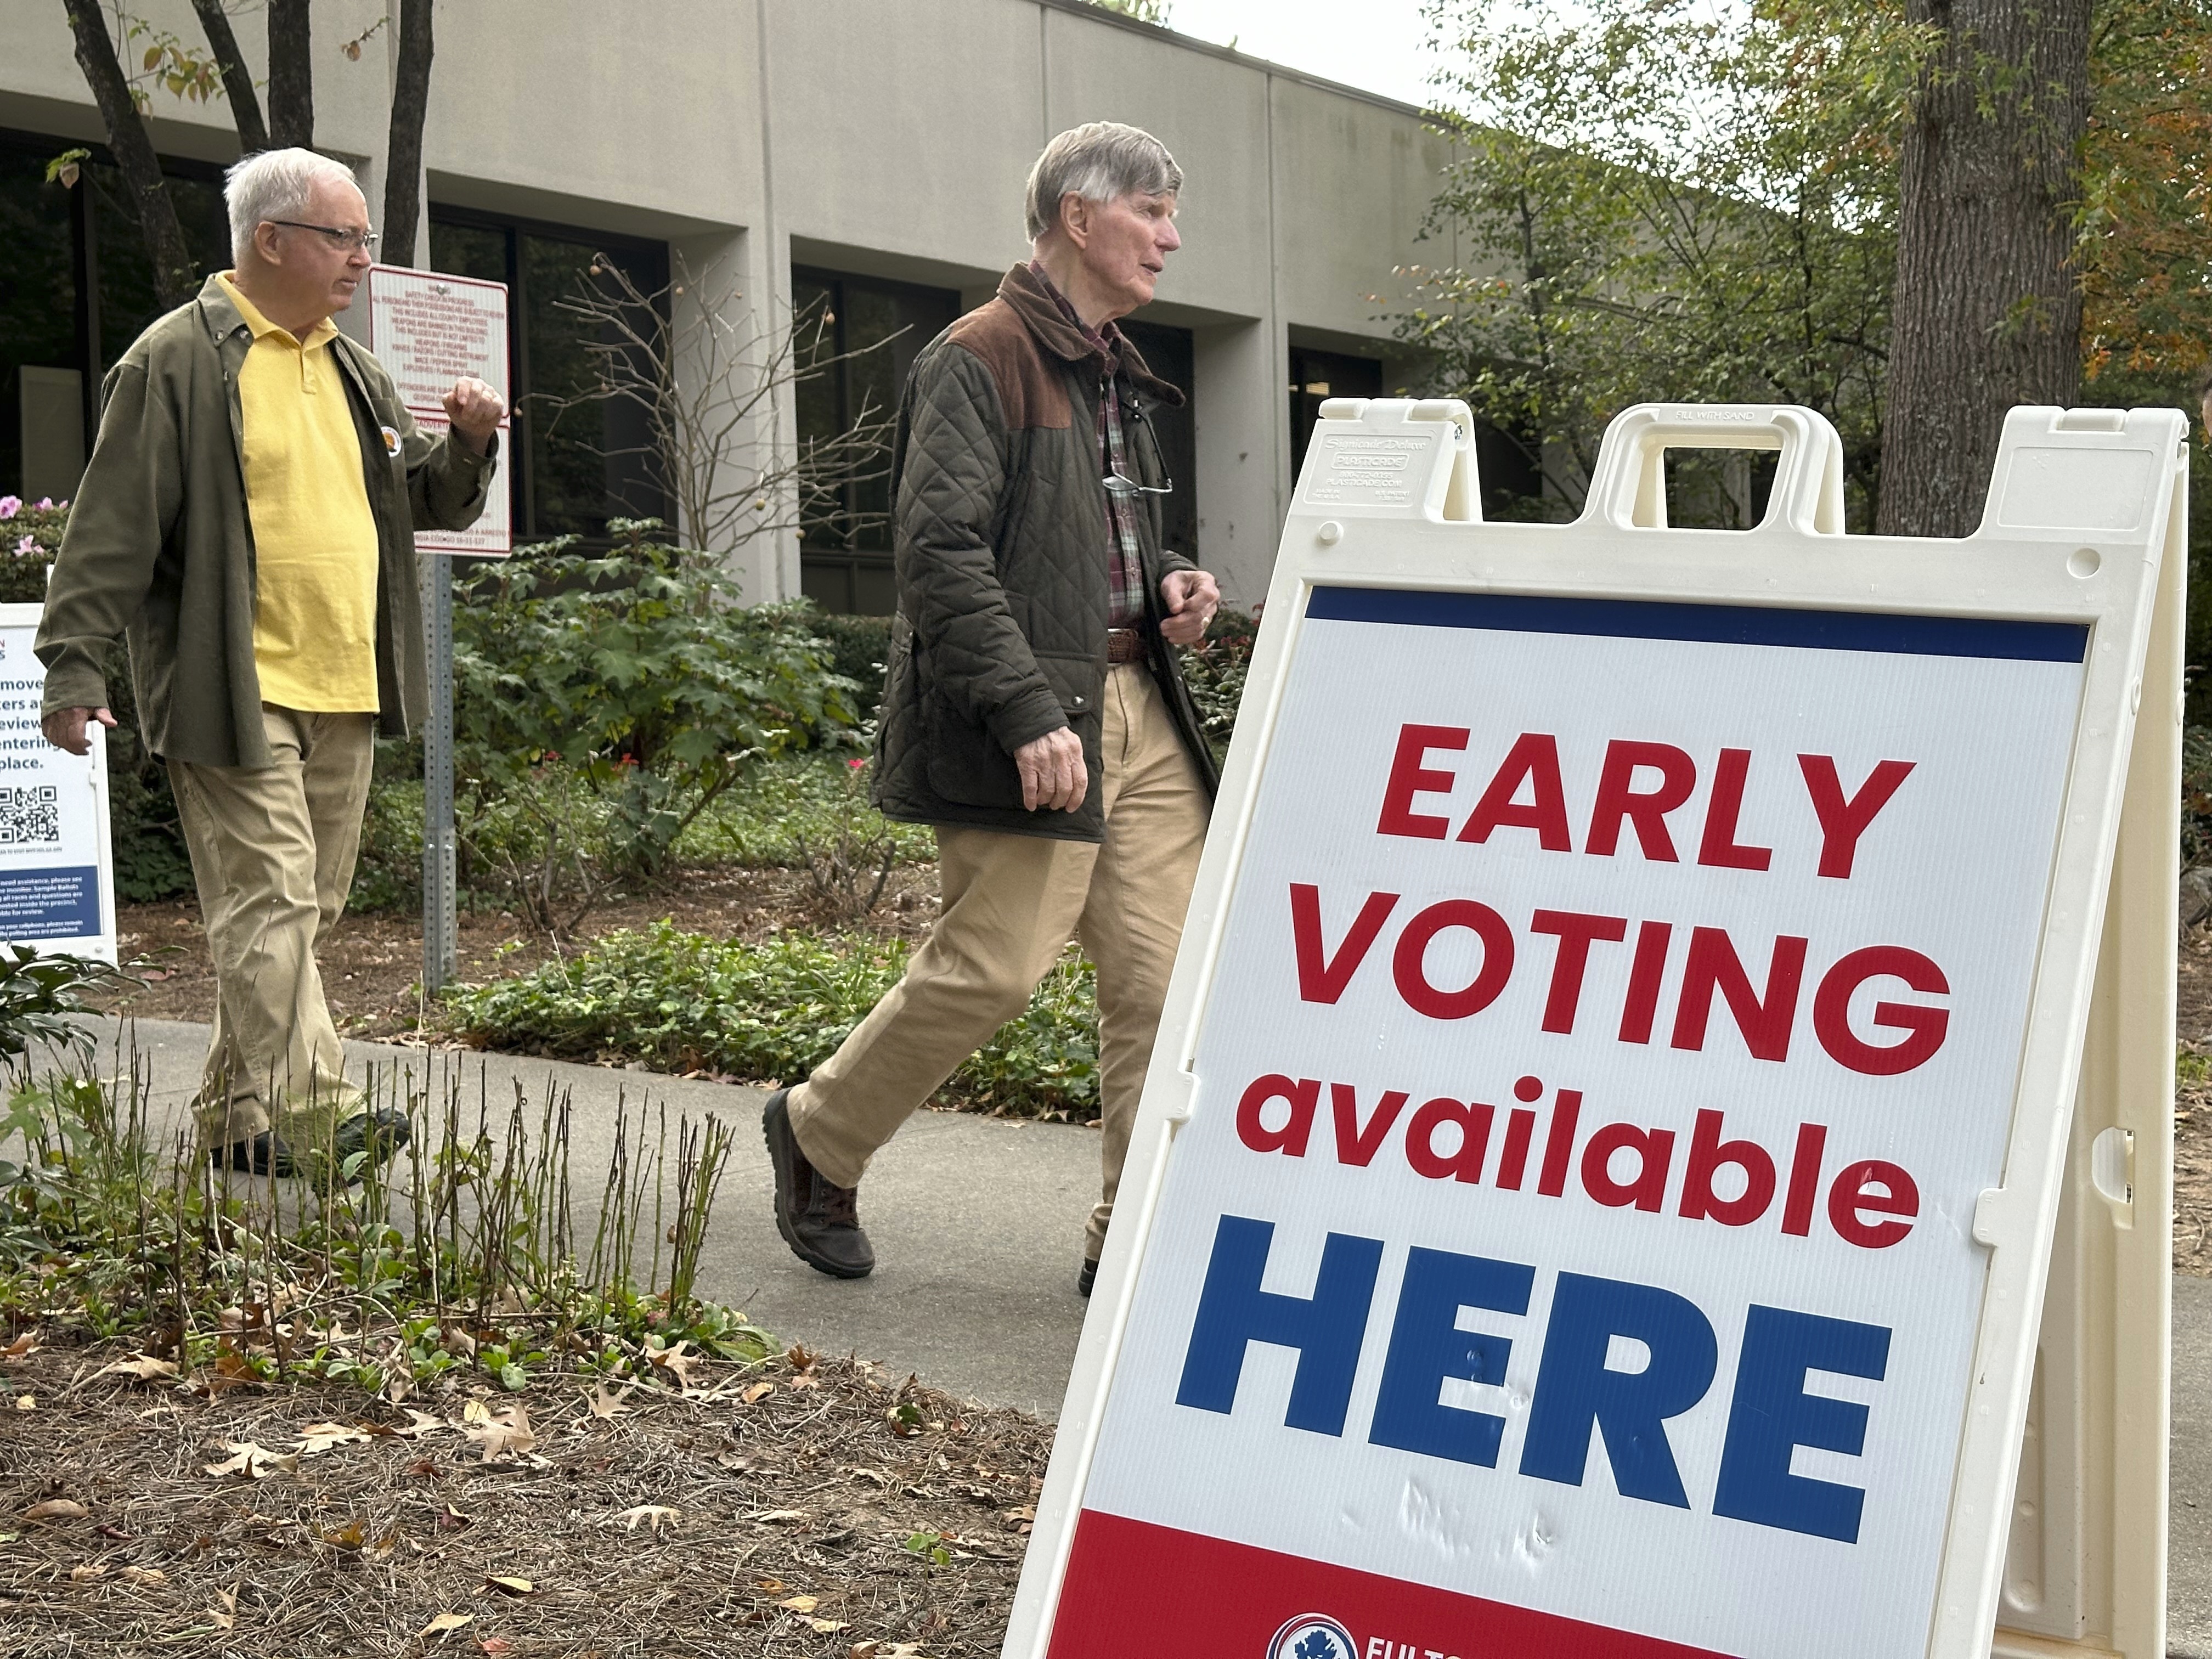
<path fill-rule="evenodd" d="M 1183 51 L 1157 35 L 1042 11 L 1046 124 L 1141 126 L 1183 168 L 1177 228 L 1159 294 L 1234 316 L 1267 312 L 1267 75 L 1254 64 Z"/>

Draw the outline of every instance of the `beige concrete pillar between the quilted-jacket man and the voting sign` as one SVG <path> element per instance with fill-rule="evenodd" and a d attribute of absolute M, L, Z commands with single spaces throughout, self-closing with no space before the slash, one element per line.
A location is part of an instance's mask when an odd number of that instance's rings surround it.
<path fill-rule="evenodd" d="M 1192 330 L 1199 449 L 1199 564 L 1234 606 L 1267 595 L 1283 531 L 1287 409 L 1281 330 L 1237 323 Z"/>

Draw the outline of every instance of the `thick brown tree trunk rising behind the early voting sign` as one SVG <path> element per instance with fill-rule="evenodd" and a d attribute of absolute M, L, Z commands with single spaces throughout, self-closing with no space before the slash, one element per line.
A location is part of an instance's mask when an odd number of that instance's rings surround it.
<path fill-rule="evenodd" d="M 1940 40 L 1905 133 L 1876 529 L 1969 535 L 2004 411 L 2073 403 L 2090 0 L 1909 0 Z"/>

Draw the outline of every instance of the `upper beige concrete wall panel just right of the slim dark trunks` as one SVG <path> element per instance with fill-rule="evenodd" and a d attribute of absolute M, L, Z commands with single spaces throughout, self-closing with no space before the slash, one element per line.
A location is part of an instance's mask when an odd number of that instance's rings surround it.
<path fill-rule="evenodd" d="M 757 18 L 754 0 L 438 7 L 422 131 L 438 199 L 504 212 L 535 204 L 542 217 L 606 230 L 754 223 Z M 473 186 L 467 201 L 453 192 L 460 181 Z M 626 208 L 628 223 L 580 204 Z"/>

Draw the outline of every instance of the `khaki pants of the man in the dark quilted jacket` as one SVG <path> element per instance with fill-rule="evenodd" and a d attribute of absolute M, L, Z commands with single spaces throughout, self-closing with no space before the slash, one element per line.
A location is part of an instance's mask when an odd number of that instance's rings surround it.
<path fill-rule="evenodd" d="M 1206 845 L 1206 790 L 1152 677 L 1110 668 L 1104 697 L 1106 841 L 938 830 L 945 914 L 905 978 L 790 1095 L 807 1161 L 858 1186 L 867 1159 L 938 1084 L 1022 1011 L 1068 936 L 1099 971 L 1104 1197 L 1084 1250 L 1106 1243 L 1152 1033 Z"/>

